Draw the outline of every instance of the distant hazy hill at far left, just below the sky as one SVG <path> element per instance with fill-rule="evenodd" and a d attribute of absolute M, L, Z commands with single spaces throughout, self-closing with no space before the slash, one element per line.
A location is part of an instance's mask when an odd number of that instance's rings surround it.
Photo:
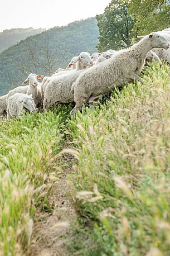
<path fill-rule="evenodd" d="M 21 40 L 25 40 L 28 36 L 36 35 L 42 31 L 45 31 L 45 29 L 33 29 L 33 27 L 29 27 L 28 29 L 3 30 L 0 33 L 0 52 L 17 44 Z"/>

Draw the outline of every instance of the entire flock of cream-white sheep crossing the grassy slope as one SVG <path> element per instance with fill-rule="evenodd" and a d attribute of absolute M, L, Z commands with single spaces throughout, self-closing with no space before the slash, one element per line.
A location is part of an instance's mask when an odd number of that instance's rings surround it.
<path fill-rule="evenodd" d="M 140 72 L 152 59 L 160 66 L 161 59 L 170 65 L 170 27 L 140 37 L 142 40 L 129 49 L 91 56 L 82 52 L 72 58 L 66 69 L 57 69 L 51 77 L 29 74 L 22 86 L 0 97 L 0 116 L 7 113 L 9 120 L 21 116 L 25 108 L 31 112 L 39 107 L 46 111 L 53 105 L 70 102 L 76 103 L 71 111 L 75 114 L 83 103 L 95 101 L 101 93 L 108 94 L 114 87 L 134 79 L 142 82 Z M 42 78 L 42 83 L 38 82 Z"/>

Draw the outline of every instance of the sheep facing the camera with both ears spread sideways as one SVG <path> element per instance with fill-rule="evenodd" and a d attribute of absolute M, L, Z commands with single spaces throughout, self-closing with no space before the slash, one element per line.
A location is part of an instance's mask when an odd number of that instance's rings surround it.
<path fill-rule="evenodd" d="M 36 107 L 42 106 L 41 83 L 38 83 L 37 79 L 41 79 L 43 77 L 43 75 L 36 75 L 31 73 L 28 75 L 27 79 L 22 83 L 22 85 L 26 85 L 29 83 L 27 94 L 32 94 Z"/>

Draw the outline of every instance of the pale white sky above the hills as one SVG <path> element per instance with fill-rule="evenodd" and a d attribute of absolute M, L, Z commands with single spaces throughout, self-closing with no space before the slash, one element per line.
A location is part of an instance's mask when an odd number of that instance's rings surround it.
<path fill-rule="evenodd" d="M 111 0 L 1 0 L 0 32 L 5 29 L 50 29 L 104 12 Z"/>

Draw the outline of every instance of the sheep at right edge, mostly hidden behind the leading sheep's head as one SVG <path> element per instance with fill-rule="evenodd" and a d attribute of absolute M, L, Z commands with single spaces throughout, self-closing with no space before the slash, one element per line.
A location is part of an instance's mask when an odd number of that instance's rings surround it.
<path fill-rule="evenodd" d="M 166 39 L 170 43 L 170 31 L 169 31 L 169 33 L 168 33 L 168 30 L 158 31 L 158 33 L 161 34 L 162 36 L 166 37 Z M 154 48 L 153 51 L 154 51 L 154 53 L 157 54 L 157 56 L 160 59 L 166 61 L 170 65 L 170 49 L 165 50 L 165 49 Z"/>

